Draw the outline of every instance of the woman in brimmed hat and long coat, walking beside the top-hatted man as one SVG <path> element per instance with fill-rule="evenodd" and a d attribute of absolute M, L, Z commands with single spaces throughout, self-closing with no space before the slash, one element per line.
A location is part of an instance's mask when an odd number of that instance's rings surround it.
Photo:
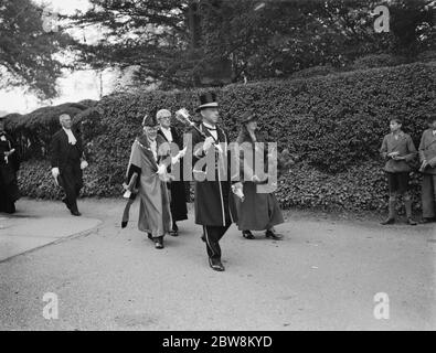
<path fill-rule="evenodd" d="M 265 161 L 264 172 L 267 172 L 267 158 L 257 156 L 264 151 L 255 146 L 259 142 L 256 136 L 257 120 L 253 113 L 244 114 L 242 128 L 236 142 L 240 146 L 241 181 L 243 182 L 244 200 L 237 199 L 237 226 L 246 239 L 254 239 L 251 231 L 266 231 L 266 237 L 280 239 L 281 236 L 275 233 L 274 226 L 284 223 L 280 207 L 273 193 L 258 193 L 257 186 L 260 184 L 263 175 L 256 175 L 256 161 Z M 266 148 L 265 148 L 266 150 Z M 244 158 L 244 154 L 246 157 Z"/>

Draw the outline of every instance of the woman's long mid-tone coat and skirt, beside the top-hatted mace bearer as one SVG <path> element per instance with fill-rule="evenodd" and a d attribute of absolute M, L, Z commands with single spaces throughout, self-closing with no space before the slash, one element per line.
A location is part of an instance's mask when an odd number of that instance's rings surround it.
<path fill-rule="evenodd" d="M 240 133 L 236 142 L 243 146 L 238 157 L 241 160 L 240 165 L 243 168 L 241 176 L 243 178 L 245 174 L 245 179 L 241 179 L 244 185 L 244 201 L 241 199 L 236 200 L 237 227 L 240 231 L 270 229 L 273 226 L 285 222 L 281 210 L 274 193 L 259 193 L 257 192 L 256 183 L 244 181 L 251 179 L 251 176 L 255 174 L 254 171 L 256 170 L 256 165 L 254 159 L 255 154 L 258 153 L 255 150 L 253 139 L 246 133 L 245 129 Z M 266 172 L 268 167 L 267 160 L 264 159 L 264 161 L 266 164 L 263 172 Z"/>

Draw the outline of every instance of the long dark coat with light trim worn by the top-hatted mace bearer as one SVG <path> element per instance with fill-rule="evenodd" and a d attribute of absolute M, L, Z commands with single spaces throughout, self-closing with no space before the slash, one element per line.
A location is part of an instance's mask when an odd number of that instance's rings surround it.
<path fill-rule="evenodd" d="M 208 137 L 212 137 L 210 131 L 204 127 L 203 124 L 199 125 L 199 129 L 205 133 Z M 228 143 L 228 138 L 226 132 L 217 127 L 217 141 L 224 146 Z M 203 158 L 215 157 L 215 161 L 219 160 L 216 153 L 214 152 L 214 148 L 212 147 L 208 154 L 202 150 L 202 143 L 204 142 L 204 138 L 201 136 L 199 131 L 195 129 L 191 130 L 192 133 L 192 145 L 193 145 L 193 169 L 195 164 L 201 161 Z M 226 147 L 223 148 L 224 158 L 230 159 L 230 153 L 226 153 Z M 214 156 L 215 154 L 215 156 Z M 231 193 L 231 173 L 230 165 L 227 163 L 227 175 L 226 178 L 223 172 L 220 172 L 220 165 L 223 163 L 215 163 L 215 168 L 213 171 L 209 171 L 215 173 L 215 180 L 204 180 L 198 181 L 195 180 L 195 223 L 204 226 L 230 226 L 234 223 L 236 218 L 236 208 L 234 203 L 233 193 Z M 206 171 L 206 165 L 201 168 L 203 171 Z M 195 175 L 194 175 L 195 178 Z"/>

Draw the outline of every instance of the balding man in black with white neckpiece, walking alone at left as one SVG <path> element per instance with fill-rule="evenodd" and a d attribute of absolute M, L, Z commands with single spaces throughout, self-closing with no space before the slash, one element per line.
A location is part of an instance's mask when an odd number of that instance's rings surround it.
<path fill-rule="evenodd" d="M 82 170 L 87 167 L 84 159 L 82 139 L 72 130 L 70 115 L 60 116 L 62 129 L 52 139 L 51 161 L 52 174 L 56 183 L 65 191 L 62 200 L 74 216 L 81 216 L 77 208 L 77 197 L 83 188 Z"/>

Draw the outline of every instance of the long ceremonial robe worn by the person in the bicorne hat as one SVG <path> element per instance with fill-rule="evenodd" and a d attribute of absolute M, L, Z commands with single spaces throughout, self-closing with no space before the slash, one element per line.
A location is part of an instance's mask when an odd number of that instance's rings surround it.
<path fill-rule="evenodd" d="M 158 149 L 163 142 L 157 138 Z M 138 228 L 152 237 L 163 236 L 171 231 L 172 220 L 170 196 L 166 182 L 157 174 L 158 161 L 145 136 L 137 138 L 131 146 L 128 175 L 138 173 L 139 218 Z"/>

